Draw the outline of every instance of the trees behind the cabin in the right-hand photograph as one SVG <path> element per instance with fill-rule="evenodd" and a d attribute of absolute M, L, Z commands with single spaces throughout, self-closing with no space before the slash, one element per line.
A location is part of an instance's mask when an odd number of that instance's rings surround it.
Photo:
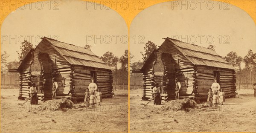
<path fill-rule="evenodd" d="M 214 45 L 209 45 L 207 48 L 215 51 Z M 142 61 L 137 61 L 131 64 L 130 69 L 141 69 L 144 61 L 147 60 L 149 55 L 157 49 L 157 45 L 151 41 L 145 43 L 144 51 L 140 52 L 142 55 Z M 249 49 L 247 55 L 244 57 L 239 56 L 236 52 L 229 52 L 226 56 L 222 57 L 225 61 L 236 68 L 236 77 L 239 79 L 240 84 L 253 84 L 256 82 L 256 53 L 253 53 L 252 49 Z M 245 67 L 241 68 L 241 64 L 244 63 Z M 135 76 L 134 74 L 131 74 Z M 140 75 L 137 75 L 140 76 Z M 135 77 L 136 78 L 136 77 Z M 237 83 L 238 83 L 237 82 Z"/>

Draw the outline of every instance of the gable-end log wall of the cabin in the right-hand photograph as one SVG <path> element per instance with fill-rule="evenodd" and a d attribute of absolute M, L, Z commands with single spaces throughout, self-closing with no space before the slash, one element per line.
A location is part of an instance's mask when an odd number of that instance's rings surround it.
<path fill-rule="evenodd" d="M 161 94 L 162 99 L 164 96 L 167 100 L 175 99 L 175 78 L 179 78 L 181 84 L 180 97 L 187 98 L 192 93 L 196 93 L 197 84 L 193 76 L 196 71 L 194 65 L 170 42 L 165 41 L 155 55 L 148 60 L 150 61 L 147 61 L 146 67 L 143 69 L 143 98 L 152 98 L 152 89 L 157 82 L 162 85 L 163 90 L 166 87 L 167 94 Z M 160 63 L 163 64 L 164 72 L 162 76 L 157 76 L 155 75 L 154 64 Z M 167 79 L 169 82 L 165 86 L 164 83 Z"/>

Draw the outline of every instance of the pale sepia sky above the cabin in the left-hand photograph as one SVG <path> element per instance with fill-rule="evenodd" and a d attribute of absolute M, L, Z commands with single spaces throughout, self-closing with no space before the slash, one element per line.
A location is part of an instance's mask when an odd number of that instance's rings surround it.
<path fill-rule="evenodd" d="M 120 57 L 128 49 L 127 25 L 114 10 L 95 8 L 79 0 L 42 3 L 32 3 L 31 8 L 23 6 L 4 20 L 1 53 L 10 55 L 8 61 L 18 59 L 16 51 L 20 51 L 23 40 L 30 40 L 35 46 L 44 36 L 81 47 L 90 44 L 98 56 L 110 51 Z"/>

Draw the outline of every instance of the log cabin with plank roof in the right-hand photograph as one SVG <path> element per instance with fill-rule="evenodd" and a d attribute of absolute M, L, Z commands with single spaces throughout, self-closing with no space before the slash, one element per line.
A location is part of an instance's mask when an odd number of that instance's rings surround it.
<path fill-rule="evenodd" d="M 179 99 L 207 99 L 214 79 L 226 97 L 235 95 L 235 68 L 215 51 L 172 38 L 164 39 L 163 44 L 148 56 L 143 67 L 132 71 L 143 73 L 142 99 L 153 98 L 155 83 L 160 86 L 162 100 L 175 99 L 175 78 L 181 84 Z"/>

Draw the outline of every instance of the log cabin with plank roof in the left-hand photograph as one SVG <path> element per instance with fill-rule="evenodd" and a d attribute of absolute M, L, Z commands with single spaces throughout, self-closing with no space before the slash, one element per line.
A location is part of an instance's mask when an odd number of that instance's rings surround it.
<path fill-rule="evenodd" d="M 33 82 L 40 99 L 51 99 L 53 77 L 58 82 L 56 99 L 84 99 L 92 79 L 102 97 L 113 95 L 111 67 L 88 49 L 51 38 L 42 38 L 22 60 L 17 72 L 20 73 L 19 99 L 29 98 L 29 87 Z"/>

